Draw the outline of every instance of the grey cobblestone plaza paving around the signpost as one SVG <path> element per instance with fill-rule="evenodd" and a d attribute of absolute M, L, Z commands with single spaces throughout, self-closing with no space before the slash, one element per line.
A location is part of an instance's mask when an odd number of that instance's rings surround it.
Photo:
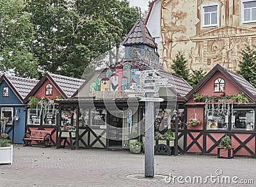
<path fill-rule="evenodd" d="M 245 157 L 228 160 L 217 156 L 158 155 L 155 156 L 156 177 L 146 179 L 143 177 L 144 154 L 14 145 L 13 164 L 0 165 L 0 170 L 0 186 L 256 185 L 256 159 Z M 241 184 L 252 182 L 254 184 Z"/>

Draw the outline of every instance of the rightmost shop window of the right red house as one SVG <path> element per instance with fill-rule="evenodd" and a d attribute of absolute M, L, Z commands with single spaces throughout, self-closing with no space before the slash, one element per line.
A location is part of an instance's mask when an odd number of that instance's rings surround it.
<path fill-rule="evenodd" d="M 244 129 L 254 130 L 255 112 L 253 109 L 232 110 L 231 124 L 232 130 Z"/>

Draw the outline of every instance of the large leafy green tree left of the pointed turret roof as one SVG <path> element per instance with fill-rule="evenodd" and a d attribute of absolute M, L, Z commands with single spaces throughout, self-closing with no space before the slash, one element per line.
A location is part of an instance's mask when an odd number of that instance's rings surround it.
<path fill-rule="evenodd" d="M 127 0 L 28 2 L 35 29 L 33 53 L 43 73 L 80 78 L 95 57 L 120 45 L 138 19 Z"/>

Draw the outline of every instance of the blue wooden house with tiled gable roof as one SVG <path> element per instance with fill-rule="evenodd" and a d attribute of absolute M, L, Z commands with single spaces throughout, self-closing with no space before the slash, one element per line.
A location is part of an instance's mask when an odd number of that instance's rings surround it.
<path fill-rule="evenodd" d="M 26 96 L 38 80 L 2 75 L 0 78 L 1 119 L 8 117 L 5 132 L 12 142 L 21 144 L 25 133 Z"/>

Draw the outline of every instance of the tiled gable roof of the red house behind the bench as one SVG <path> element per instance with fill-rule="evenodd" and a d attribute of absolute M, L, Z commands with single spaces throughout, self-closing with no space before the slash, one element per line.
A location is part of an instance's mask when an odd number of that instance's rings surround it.
<path fill-rule="evenodd" d="M 65 99 L 70 98 L 84 82 L 82 79 L 56 75 L 53 73 L 46 73 L 44 77 L 42 77 L 42 79 L 40 79 L 40 81 L 36 84 L 34 89 L 31 90 L 28 96 L 26 96 L 25 100 L 28 100 L 28 98 L 32 96 L 47 79 L 51 81 L 54 87 L 58 89 L 61 96 L 63 96 Z"/>

